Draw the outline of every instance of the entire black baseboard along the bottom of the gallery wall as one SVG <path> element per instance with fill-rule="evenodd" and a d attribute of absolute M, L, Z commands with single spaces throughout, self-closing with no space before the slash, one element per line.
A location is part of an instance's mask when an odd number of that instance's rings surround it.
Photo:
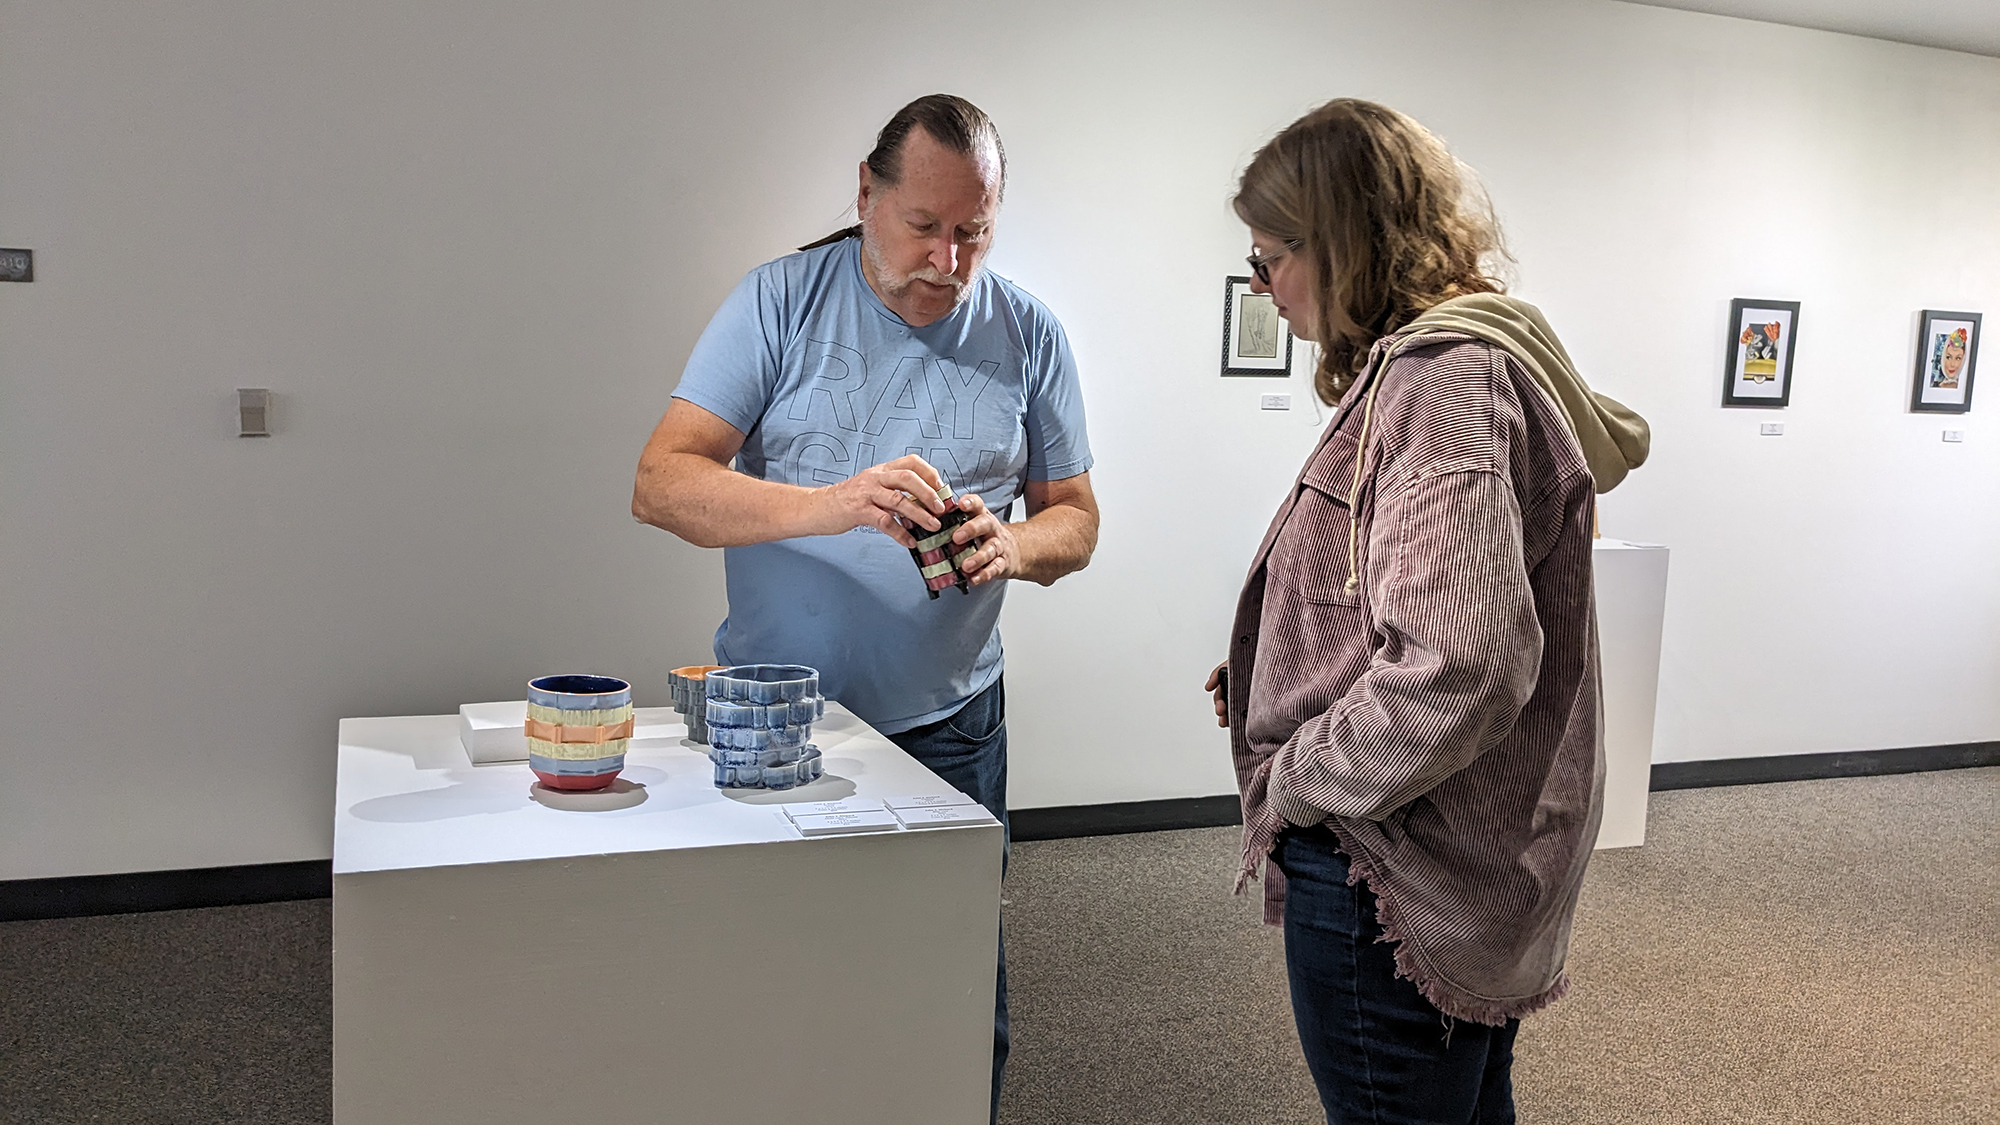
<path fill-rule="evenodd" d="M 2000 743 L 1654 763 L 1652 789 L 1708 789 L 1718 785 L 1766 785 L 1774 781 L 1822 781 L 1830 777 L 1880 777 L 1990 765 L 2000 765 Z M 1178 797 L 1172 801 L 1014 809 L 1010 821 L 1016 841 L 1058 841 L 1240 825 L 1242 805 L 1230 793 L 1224 797 Z M 194 907 L 244 907 L 250 903 L 326 899 L 332 893 L 334 865 L 326 859 L 200 867 L 192 871 L 134 871 L 130 875 L 76 875 L 68 879 L 14 879 L 0 881 L 0 923 L 126 915 L 138 911 L 186 911 Z"/>

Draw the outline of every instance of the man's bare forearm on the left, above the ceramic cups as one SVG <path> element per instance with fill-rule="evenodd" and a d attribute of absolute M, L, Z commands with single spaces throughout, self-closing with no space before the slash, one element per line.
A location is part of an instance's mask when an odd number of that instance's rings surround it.
<path fill-rule="evenodd" d="M 696 546 L 746 546 L 814 534 L 812 488 L 758 480 L 726 464 L 672 452 L 648 460 L 632 488 L 632 516 Z"/>

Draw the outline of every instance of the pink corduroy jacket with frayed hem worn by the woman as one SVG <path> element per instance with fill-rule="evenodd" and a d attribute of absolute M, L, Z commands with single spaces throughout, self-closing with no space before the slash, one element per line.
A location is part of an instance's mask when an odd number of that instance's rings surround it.
<path fill-rule="evenodd" d="M 1398 975 L 1500 1025 L 1562 995 L 1602 811 L 1592 476 L 1506 350 L 1388 336 L 1250 567 L 1228 723 L 1244 881 L 1326 823 Z M 1284 877 L 1264 875 L 1266 921 Z"/>

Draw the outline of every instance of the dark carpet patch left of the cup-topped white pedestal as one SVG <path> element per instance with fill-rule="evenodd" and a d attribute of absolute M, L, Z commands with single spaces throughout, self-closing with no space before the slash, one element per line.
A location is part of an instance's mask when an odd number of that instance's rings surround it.
<path fill-rule="evenodd" d="M 0 925 L 0 1123 L 326 1123 L 330 899 Z"/>

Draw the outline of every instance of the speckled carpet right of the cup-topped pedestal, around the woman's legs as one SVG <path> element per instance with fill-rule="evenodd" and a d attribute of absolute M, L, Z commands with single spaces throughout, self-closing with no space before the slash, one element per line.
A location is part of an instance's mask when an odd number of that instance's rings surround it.
<path fill-rule="evenodd" d="M 1598 853 L 1528 1123 L 2000 1123 L 2000 769 L 1654 793 Z M 1236 829 L 1020 845 L 1010 1125 L 1322 1121 Z"/>

